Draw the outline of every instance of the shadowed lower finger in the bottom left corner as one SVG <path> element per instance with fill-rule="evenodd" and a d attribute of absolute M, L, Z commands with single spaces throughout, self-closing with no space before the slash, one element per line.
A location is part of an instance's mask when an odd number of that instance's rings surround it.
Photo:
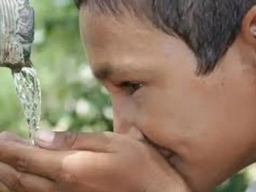
<path fill-rule="evenodd" d="M 54 182 L 39 176 L 17 172 L 7 164 L 0 163 L 0 192 L 46 192 L 55 191 Z"/>

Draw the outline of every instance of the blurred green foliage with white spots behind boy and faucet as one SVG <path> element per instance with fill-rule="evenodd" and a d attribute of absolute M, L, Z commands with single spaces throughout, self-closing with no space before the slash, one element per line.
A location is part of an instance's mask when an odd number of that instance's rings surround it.
<path fill-rule="evenodd" d="M 108 93 L 92 76 L 72 0 L 31 0 L 35 9 L 32 62 L 42 89 L 41 127 L 53 130 L 112 130 Z M 9 69 L 0 70 L 0 131 L 28 136 Z M 256 178 L 255 168 L 241 171 L 212 192 L 244 192 Z M 254 190 L 256 191 L 256 189 Z"/>

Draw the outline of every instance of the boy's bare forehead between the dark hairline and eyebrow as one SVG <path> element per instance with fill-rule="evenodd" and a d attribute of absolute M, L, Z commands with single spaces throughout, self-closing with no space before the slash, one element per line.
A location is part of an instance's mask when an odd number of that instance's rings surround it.
<path fill-rule="evenodd" d="M 118 69 L 124 66 L 153 68 L 157 64 L 160 67 L 163 62 L 158 64 L 158 60 L 177 59 L 190 52 L 178 38 L 165 34 L 146 19 L 138 19 L 128 12 L 115 17 L 82 8 L 80 30 L 93 70 L 106 66 Z"/>

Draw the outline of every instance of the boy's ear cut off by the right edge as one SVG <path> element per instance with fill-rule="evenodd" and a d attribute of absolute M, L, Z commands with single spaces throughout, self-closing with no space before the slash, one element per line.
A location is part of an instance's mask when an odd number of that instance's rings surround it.
<path fill-rule="evenodd" d="M 256 49 L 256 6 L 244 16 L 241 28 L 242 38 Z"/>

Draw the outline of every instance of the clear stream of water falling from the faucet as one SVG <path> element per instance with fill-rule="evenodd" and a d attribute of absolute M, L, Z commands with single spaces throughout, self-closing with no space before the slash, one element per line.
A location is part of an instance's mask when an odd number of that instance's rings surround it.
<path fill-rule="evenodd" d="M 23 67 L 12 71 L 16 94 L 22 104 L 29 128 L 29 142 L 34 145 L 34 132 L 40 123 L 41 90 L 34 67 Z"/>

